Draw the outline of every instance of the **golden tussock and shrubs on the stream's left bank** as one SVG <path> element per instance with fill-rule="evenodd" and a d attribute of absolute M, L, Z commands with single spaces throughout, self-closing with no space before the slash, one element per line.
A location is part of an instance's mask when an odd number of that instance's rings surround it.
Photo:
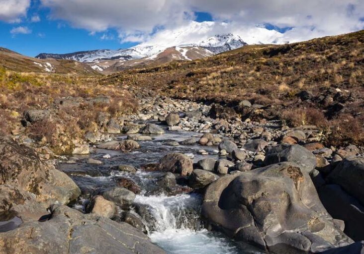
<path fill-rule="evenodd" d="M 94 129 L 99 112 L 118 117 L 137 109 L 137 101 L 125 89 L 100 85 L 96 80 L 95 77 L 22 73 L 0 68 L 0 131 L 5 134 L 25 131 L 41 144 L 61 149 L 59 153 L 69 152 L 67 149 L 86 131 Z M 87 103 L 88 98 L 100 95 L 109 97 L 111 102 Z M 83 102 L 75 107 L 59 107 L 57 99 L 65 97 L 80 97 Z M 21 120 L 23 113 L 30 109 L 50 110 L 52 118 L 24 130 Z"/>

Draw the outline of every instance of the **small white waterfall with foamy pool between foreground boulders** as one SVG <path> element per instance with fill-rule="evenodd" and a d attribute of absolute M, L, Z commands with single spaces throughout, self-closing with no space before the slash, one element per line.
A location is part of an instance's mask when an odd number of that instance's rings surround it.
<path fill-rule="evenodd" d="M 169 254 L 243 253 L 221 234 L 201 228 L 199 195 L 137 195 L 135 202 L 148 207 L 149 237 Z"/>

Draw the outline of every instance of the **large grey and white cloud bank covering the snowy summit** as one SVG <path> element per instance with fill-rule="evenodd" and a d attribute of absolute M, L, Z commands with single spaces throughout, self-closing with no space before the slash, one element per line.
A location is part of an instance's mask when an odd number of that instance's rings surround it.
<path fill-rule="evenodd" d="M 363 29 L 363 0 L 41 0 L 50 17 L 102 32 L 109 28 L 121 41 L 160 42 L 203 39 L 238 33 L 248 43 L 284 43 Z M 196 25 L 194 12 L 208 12 L 214 22 Z M 267 24 L 292 29 L 268 30 Z"/>

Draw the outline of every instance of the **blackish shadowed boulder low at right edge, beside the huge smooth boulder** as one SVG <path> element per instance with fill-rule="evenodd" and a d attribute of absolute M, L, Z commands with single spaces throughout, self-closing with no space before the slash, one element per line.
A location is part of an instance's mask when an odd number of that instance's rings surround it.
<path fill-rule="evenodd" d="M 325 185 L 318 190 L 322 204 L 335 219 L 345 222 L 344 233 L 354 241 L 364 240 L 364 206 L 338 185 Z"/>

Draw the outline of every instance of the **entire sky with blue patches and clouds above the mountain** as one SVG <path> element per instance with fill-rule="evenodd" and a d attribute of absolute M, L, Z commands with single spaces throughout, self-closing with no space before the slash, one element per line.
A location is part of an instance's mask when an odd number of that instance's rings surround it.
<path fill-rule="evenodd" d="M 363 28 L 363 0 L 0 0 L 0 47 L 33 57 L 164 43 L 176 31 L 186 40 L 234 33 L 251 44 Z"/>

